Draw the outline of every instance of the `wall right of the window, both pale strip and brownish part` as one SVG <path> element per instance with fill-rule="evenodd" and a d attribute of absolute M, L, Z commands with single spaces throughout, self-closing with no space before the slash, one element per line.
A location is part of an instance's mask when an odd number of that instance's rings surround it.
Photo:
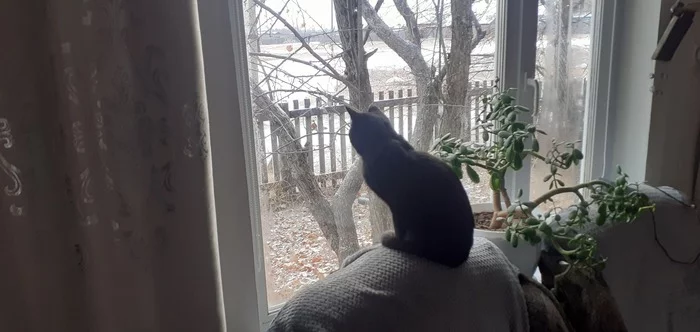
<path fill-rule="evenodd" d="M 690 196 L 700 127 L 700 23 L 693 24 L 673 60 L 651 60 L 674 2 L 617 1 L 605 174 L 614 176 L 622 165 L 635 181 Z"/>

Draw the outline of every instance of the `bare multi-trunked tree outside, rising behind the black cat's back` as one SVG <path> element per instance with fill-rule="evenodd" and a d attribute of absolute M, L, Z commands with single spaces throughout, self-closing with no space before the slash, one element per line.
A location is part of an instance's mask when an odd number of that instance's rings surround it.
<path fill-rule="evenodd" d="M 386 43 L 401 59 L 406 62 L 415 78 L 416 89 L 419 98 L 419 112 L 416 117 L 415 131 L 411 144 L 417 150 L 427 150 L 433 140 L 434 128 L 438 119 L 438 105 L 442 99 L 441 89 L 443 80 L 447 79 L 447 96 L 444 98 L 448 107 L 444 109 L 441 127 L 445 132 L 460 135 L 461 115 L 464 110 L 465 99 L 468 93 L 469 67 L 471 65 L 471 51 L 484 38 L 485 33 L 476 19 L 472 10 L 472 0 L 452 1 L 452 41 L 449 57 L 444 62 L 439 61 L 438 67 L 428 63 L 421 52 L 422 37 L 418 26 L 417 15 L 409 6 L 407 0 L 394 0 L 396 9 L 405 21 L 406 38 L 402 38 L 379 16 L 377 10 L 369 3 L 362 0 L 362 15 L 369 27 L 377 36 Z M 442 34 L 442 19 L 444 1 L 435 3 L 435 17 L 437 18 L 438 39 L 444 45 Z M 477 31 L 475 34 L 474 31 Z M 444 48 L 441 47 L 441 51 Z M 439 59 L 442 59 L 438 56 Z M 444 63 L 445 65 L 441 65 Z M 376 240 L 381 232 L 391 228 L 392 220 L 390 211 L 376 196 L 370 199 L 370 223 L 372 224 L 373 238 Z"/>

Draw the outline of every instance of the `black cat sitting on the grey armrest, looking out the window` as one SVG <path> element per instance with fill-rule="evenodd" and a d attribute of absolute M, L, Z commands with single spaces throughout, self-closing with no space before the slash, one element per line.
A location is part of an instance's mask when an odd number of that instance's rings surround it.
<path fill-rule="evenodd" d="M 389 206 L 394 233 L 386 247 L 457 267 L 474 242 L 474 215 L 457 175 L 436 157 L 418 152 L 376 107 L 347 107 L 350 142 L 363 160 L 367 186 Z"/>

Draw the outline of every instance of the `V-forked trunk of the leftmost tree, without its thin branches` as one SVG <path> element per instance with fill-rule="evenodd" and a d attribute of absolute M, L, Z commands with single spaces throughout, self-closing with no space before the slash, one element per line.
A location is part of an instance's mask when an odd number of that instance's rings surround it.
<path fill-rule="evenodd" d="M 349 85 L 352 85 L 348 89 L 350 103 L 358 109 L 367 109 L 372 102 L 372 88 L 363 46 L 362 19 L 358 15 L 358 1 L 334 0 L 334 6 L 343 48 L 342 58 L 346 66 L 345 75 Z M 359 158 L 356 159 L 333 198 L 326 198 L 313 173 L 308 154 L 299 142 L 294 124 L 287 113 L 260 88 L 257 76 L 253 77 L 253 82 L 256 83 L 251 84 L 253 102 L 261 110 L 256 115 L 270 120 L 271 127 L 279 128 L 277 132 L 283 172 L 291 177 L 290 182 L 299 189 L 303 201 L 340 263 L 359 249 L 352 204 L 363 182 L 362 162 Z"/>

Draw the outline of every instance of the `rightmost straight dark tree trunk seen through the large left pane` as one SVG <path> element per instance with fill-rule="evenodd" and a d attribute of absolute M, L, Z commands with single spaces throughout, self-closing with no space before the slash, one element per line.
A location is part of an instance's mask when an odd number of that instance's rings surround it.
<path fill-rule="evenodd" d="M 462 134 L 462 113 L 469 92 L 469 67 L 471 66 L 472 40 L 474 38 L 472 0 L 452 1 L 452 45 L 445 76 L 445 107 L 440 120 L 438 137 Z"/>

